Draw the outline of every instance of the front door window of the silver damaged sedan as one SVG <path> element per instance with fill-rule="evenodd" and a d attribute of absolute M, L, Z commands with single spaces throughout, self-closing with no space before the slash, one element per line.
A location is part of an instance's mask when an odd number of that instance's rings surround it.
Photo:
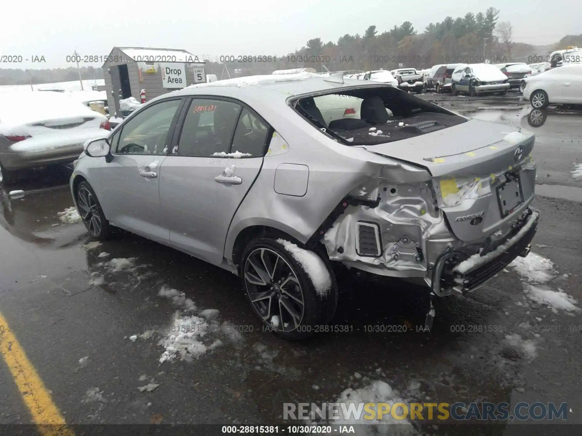
<path fill-rule="evenodd" d="M 168 100 L 137 113 L 123 126 L 116 152 L 165 154 L 168 132 L 181 102 L 180 99 Z"/>

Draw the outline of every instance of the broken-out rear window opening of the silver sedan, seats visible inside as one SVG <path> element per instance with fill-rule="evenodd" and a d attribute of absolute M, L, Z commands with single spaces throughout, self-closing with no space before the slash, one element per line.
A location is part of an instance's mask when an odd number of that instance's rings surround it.
<path fill-rule="evenodd" d="M 315 128 L 346 145 L 400 141 L 467 120 L 393 87 L 365 87 L 292 102 Z"/>

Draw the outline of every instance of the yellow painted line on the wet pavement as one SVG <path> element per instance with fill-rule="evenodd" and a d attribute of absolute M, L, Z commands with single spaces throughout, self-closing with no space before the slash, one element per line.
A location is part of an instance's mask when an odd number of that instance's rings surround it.
<path fill-rule="evenodd" d="M 66 427 L 65 419 L 52 401 L 37 371 L 26 357 L 24 349 L 0 313 L 0 353 L 16 383 L 20 395 L 29 408 L 34 424 L 44 436 L 74 436 Z"/>

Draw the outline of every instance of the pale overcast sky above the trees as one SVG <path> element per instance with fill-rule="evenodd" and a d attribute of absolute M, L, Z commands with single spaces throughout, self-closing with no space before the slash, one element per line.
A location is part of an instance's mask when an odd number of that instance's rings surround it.
<path fill-rule="evenodd" d="M 489 6 L 501 10 L 499 21 L 512 22 L 514 41 L 544 45 L 582 34 L 582 2 L 569 0 L 5 1 L 0 54 L 29 62 L 0 68 L 66 67 L 66 56 L 75 49 L 80 55 L 107 56 L 114 46 L 183 48 L 200 56 L 281 56 L 311 38 L 337 42 L 346 33 L 363 34 L 372 24 L 382 33 L 406 20 L 421 33 L 430 22 L 485 12 Z M 35 55 L 46 62 L 31 63 Z"/>

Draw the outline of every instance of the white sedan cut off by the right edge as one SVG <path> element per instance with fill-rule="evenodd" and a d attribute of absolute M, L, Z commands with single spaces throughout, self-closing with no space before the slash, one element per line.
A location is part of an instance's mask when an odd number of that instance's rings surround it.
<path fill-rule="evenodd" d="M 582 65 L 563 65 L 527 78 L 523 97 L 535 109 L 552 104 L 582 104 Z"/>

